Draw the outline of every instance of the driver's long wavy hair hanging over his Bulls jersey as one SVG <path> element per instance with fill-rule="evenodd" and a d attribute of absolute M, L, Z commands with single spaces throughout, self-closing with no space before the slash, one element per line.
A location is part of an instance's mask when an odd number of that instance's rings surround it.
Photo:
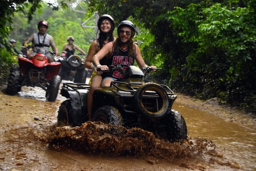
<path fill-rule="evenodd" d="M 134 53 L 134 41 L 133 41 L 133 37 L 134 37 L 135 33 L 132 31 L 132 34 L 131 34 L 131 38 L 129 40 L 129 42 L 127 43 L 128 44 L 128 57 L 132 57 L 133 56 L 133 53 Z M 114 52 L 115 53 L 119 53 L 120 52 L 120 47 L 122 45 L 122 41 L 121 41 L 121 38 L 120 38 L 120 34 L 119 34 L 119 30 L 117 32 L 117 38 L 114 42 Z"/>

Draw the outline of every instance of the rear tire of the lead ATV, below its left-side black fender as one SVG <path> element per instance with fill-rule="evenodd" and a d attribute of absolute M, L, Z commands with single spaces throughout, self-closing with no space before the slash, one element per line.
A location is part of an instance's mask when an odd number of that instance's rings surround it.
<path fill-rule="evenodd" d="M 57 125 L 59 127 L 73 125 L 73 119 L 71 117 L 71 112 L 72 112 L 72 108 L 71 108 L 70 99 L 63 101 L 59 107 L 58 116 L 57 116 L 57 118 L 58 118 Z"/>

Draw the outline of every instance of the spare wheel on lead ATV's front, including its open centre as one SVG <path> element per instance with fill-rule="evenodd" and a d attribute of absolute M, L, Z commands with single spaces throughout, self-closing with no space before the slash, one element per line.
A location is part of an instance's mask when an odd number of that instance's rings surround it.
<path fill-rule="evenodd" d="M 142 116 L 153 120 L 164 117 L 171 107 L 166 90 L 156 83 L 139 86 L 135 92 L 135 104 Z"/>

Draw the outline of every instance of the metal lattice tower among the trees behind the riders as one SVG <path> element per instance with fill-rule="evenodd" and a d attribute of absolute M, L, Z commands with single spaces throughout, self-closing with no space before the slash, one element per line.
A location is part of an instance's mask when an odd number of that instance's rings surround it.
<path fill-rule="evenodd" d="M 87 19 L 86 21 L 83 21 L 83 20 L 81 21 L 81 19 L 79 19 L 77 17 L 77 13 L 86 14 L 86 10 L 84 10 L 80 5 L 81 2 L 86 3 L 83 0 L 70 0 L 70 1 L 68 1 L 68 4 L 69 4 L 70 8 L 72 9 L 75 17 L 77 18 L 77 21 L 79 22 L 80 26 L 82 27 L 82 29 L 84 31 L 84 34 L 87 37 L 87 39 L 89 41 L 93 41 L 93 40 L 96 39 L 96 34 L 97 34 L 97 31 L 98 31 L 97 21 L 99 19 L 99 15 L 98 15 L 98 12 L 95 12 L 91 18 Z M 87 25 L 90 20 L 95 23 L 94 26 Z M 95 34 L 92 34 L 86 28 L 93 28 Z"/>

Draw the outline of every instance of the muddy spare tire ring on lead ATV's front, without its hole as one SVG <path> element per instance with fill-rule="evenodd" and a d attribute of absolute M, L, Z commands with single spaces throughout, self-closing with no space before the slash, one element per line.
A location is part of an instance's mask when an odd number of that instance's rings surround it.
<path fill-rule="evenodd" d="M 147 110 L 142 102 L 143 94 L 148 90 L 156 92 L 159 98 L 161 98 L 162 100 L 162 106 L 160 106 L 160 109 L 156 112 Z M 166 90 L 161 85 L 156 83 L 145 83 L 139 86 L 137 91 L 135 92 L 135 104 L 137 107 L 137 111 L 142 116 L 153 120 L 164 117 L 170 111 L 171 106 Z"/>

